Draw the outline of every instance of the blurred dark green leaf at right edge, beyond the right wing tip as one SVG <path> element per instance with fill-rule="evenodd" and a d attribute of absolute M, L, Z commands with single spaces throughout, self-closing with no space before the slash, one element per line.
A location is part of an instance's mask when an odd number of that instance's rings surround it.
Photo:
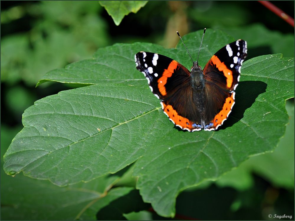
<path fill-rule="evenodd" d="M 222 30 L 236 39 L 247 40 L 250 58 L 266 53 L 282 53 L 284 57 L 294 57 L 294 34 L 269 30 L 262 24 Z"/>

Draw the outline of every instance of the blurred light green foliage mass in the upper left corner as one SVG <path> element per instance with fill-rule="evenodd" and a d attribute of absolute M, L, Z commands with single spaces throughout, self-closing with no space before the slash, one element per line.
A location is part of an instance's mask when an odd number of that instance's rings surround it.
<path fill-rule="evenodd" d="M 40 1 L 28 7 L 36 16 L 22 35 L 1 39 L 1 81 L 35 85 L 47 71 L 90 58 L 109 42 L 107 26 L 91 1 Z M 66 28 L 65 28 L 66 27 Z"/>

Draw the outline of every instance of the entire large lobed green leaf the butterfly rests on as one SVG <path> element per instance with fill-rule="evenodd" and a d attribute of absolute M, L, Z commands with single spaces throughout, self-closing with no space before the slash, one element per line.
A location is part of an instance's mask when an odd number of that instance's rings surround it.
<path fill-rule="evenodd" d="M 201 34 L 183 38 L 193 57 Z M 201 66 L 232 40 L 223 32 L 208 30 Z M 66 185 L 115 173 L 140 158 L 134 175 L 139 177 L 137 188 L 144 201 L 152 203 L 158 214 L 174 216 L 180 191 L 204 179 L 217 179 L 251 155 L 273 150 L 288 122 L 285 100 L 294 97 L 294 58 L 276 54 L 245 61 L 236 104 L 218 131 L 189 133 L 174 128 L 146 80 L 137 86 L 99 84 L 117 78 L 126 83 L 133 76 L 144 79 L 132 61 L 141 50 L 162 53 L 189 67 L 186 50 L 180 46 L 118 44 L 96 60 L 60 69 L 60 74 L 81 74 L 80 79 L 88 72 L 88 83 L 98 85 L 63 91 L 28 108 L 23 114 L 24 129 L 4 156 L 6 173 L 23 171 Z M 68 71 L 71 67 L 74 71 Z M 99 73 L 97 82 L 91 72 Z M 131 82 L 135 85 L 139 80 Z"/>

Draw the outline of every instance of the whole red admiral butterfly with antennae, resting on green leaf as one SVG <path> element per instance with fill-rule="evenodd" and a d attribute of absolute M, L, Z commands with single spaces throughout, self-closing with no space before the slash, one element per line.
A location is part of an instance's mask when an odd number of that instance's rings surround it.
<path fill-rule="evenodd" d="M 247 42 L 239 39 L 217 51 L 203 70 L 198 59 L 189 71 L 172 58 L 144 51 L 135 55 L 135 63 L 173 124 L 188 131 L 211 131 L 223 124 L 235 104 L 246 56 Z"/>

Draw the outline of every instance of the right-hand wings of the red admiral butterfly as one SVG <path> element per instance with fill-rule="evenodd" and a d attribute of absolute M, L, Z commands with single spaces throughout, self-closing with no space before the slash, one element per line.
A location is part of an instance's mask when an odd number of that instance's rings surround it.
<path fill-rule="evenodd" d="M 217 51 L 204 67 L 205 130 L 217 129 L 229 116 L 246 56 L 247 42 L 240 39 Z"/>

